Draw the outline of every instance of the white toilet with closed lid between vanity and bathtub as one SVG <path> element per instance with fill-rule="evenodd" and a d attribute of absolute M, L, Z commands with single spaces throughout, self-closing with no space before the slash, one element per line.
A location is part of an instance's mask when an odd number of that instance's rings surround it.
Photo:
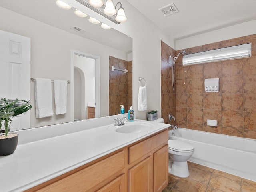
<path fill-rule="evenodd" d="M 168 140 L 169 145 L 169 173 L 178 177 L 188 177 L 187 160 L 194 153 L 194 146 L 179 140 Z"/>

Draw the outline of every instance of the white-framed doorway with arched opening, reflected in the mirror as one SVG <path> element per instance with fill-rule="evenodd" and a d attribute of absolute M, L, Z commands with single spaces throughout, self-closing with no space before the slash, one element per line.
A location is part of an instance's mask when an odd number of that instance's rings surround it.
<path fill-rule="evenodd" d="M 73 52 L 74 121 L 99 117 L 99 57 Z"/>

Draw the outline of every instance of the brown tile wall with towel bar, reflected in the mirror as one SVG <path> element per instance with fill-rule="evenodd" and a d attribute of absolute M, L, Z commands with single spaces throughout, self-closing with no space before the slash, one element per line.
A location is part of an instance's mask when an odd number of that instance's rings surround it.
<path fill-rule="evenodd" d="M 128 72 L 112 71 L 111 66 Z M 120 114 L 120 105 L 124 105 L 125 113 L 132 105 L 132 61 L 109 56 L 109 115 Z"/>

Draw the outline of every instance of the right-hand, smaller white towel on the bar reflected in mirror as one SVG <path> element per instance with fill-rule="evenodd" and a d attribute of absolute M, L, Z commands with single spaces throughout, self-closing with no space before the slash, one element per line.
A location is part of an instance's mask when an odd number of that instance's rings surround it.
<path fill-rule="evenodd" d="M 54 99 L 56 115 L 67 112 L 67 81 L 54 80 Z"/>

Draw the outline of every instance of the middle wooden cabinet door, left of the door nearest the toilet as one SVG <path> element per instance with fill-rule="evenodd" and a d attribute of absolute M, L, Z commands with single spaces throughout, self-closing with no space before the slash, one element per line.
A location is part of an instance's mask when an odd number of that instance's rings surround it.
<path fill-rule="evenodd" d="M 153 191 L 153 157 L 149 156 L 128 170 L 129 192 Z"/>

